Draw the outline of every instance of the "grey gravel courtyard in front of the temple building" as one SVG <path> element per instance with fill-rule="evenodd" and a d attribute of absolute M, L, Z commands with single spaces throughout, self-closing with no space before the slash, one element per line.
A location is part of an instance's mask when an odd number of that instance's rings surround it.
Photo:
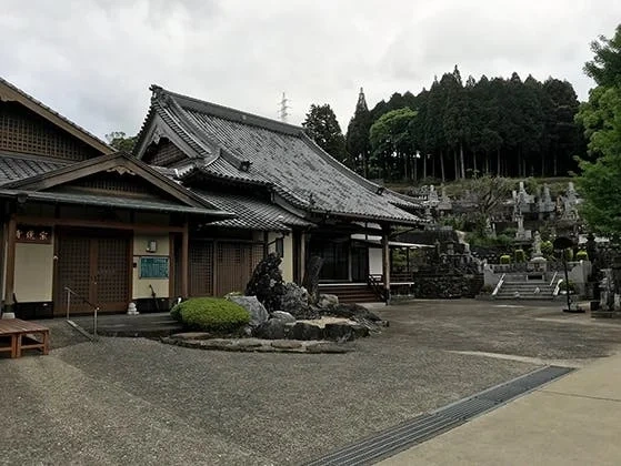
<path fill-rule="evenodd" d="M 348 354 L 188 350 L 52 327 L 0 359 L 0 464 L 299 464 L 543 364 L 621 348 L 617 321 L 560 305 L 417 301 Z"/>

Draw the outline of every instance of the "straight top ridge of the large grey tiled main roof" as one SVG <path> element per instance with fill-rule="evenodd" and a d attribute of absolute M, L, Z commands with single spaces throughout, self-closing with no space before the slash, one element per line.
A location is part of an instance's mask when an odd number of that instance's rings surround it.
<path fill-rule="evenodd" d="M 153 84 L 149 89 L 154 93 L 159 93 L 159 95 L 169 95 L 172 99 L 181 100 L 182 102 L 186 101 L 188 107 L 193 107 L 192 110 L 213 114 L 214 116 L 223 118 L 224 120 L 237 121 L 244 124 L 250 124 L 253 126 L 264 128 L 271 131 L 278 131 L 286 134 L 299 134 L 303 132 L 302 126 L 298 126 L 290 123 L 284 123 L 282 121 L 278 121 L 274 119 L 270 119 L 267 116 L 261 116 L 256 113 L 246 112 L 243 110 L 233 109 L 232 107 L 220 105 L 218 103 L 208 102 L 206 100 L 201 100 L 198 98 L 193 98 L 191 95 L 180 94 L 178 92 L 169 91 L 160 85 Z M 177 102 L 183 110 L 184 105 L 181 102 Z"/>

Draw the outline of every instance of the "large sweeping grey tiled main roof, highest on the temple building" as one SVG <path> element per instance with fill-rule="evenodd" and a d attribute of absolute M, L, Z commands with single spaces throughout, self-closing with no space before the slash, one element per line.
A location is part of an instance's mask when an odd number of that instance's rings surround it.
<path fill-rule="evenodd" d="M 302 128 L 156 89 L 152 109 L 174 122 L 174 132 L 201 136 L 210 146 L 249 163 L 248 170 L 240 170 L 212 151 L 201 168 L 207 174 L 267 184 L 306 211 L 358 220 L 421 222 L 399 207 L 414 207 L 413 203 L 339 163 L 317 146 Z"/>

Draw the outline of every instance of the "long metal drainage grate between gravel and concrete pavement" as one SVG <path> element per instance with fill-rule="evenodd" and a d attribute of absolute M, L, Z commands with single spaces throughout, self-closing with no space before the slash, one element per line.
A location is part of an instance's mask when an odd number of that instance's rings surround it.
<path fill-rule="evenodd" d="M 306 465 L 353 466 L 377 463 L 457 427 L 571 371 L 573 369 L 570 367 L 558 366 L 537 369 L 434 412 L 417 416 Z"/>

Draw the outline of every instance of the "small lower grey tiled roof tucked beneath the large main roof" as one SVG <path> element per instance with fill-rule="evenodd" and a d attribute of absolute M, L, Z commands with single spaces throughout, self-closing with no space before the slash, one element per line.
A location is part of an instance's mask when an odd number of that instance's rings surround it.
<path fill-rule="evenodd" d="M 210 204 L 222 211 L 234 213 L 237 216 L 236 219 L 214 222 L 212 225 L 261 231 L 289 231 L 291 230 L 290 226 L 312 225 L 312 223 L 269 202 L 237 194 L 192 191 Z"/>

